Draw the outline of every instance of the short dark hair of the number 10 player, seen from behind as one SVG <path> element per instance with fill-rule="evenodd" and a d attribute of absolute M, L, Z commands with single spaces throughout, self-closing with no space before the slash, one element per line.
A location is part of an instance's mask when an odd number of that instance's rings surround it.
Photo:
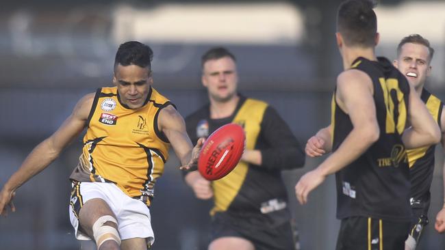
<path fill-rule="evenodd" d="M 344 1 L 338 8 L 337 29 L 347 46 L 375 46 L 377 16 L 369 0 Z"/>

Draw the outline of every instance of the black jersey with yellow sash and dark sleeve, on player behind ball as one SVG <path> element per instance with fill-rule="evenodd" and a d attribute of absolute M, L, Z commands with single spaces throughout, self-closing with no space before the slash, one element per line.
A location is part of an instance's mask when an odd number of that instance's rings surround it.
<path fill-rule="evenodd" d="M 274 218 L 288 220 L 288 195 L 281 170 L 304 165 L 305 155 L 298 141 L 275 109 L 266 102 L 244 96 L 240 96 L 230 117 L 210 119 L 209 105 L 186 117 L 187 132 L 194 142 L 230 122 L 244 128 L 246 150 L 260 150 L 262 165 L 240 161 L 231 173 L 212 182 L 214 208 L 211 214 L 228 212 L 259 217 L 273 214 Z"/>

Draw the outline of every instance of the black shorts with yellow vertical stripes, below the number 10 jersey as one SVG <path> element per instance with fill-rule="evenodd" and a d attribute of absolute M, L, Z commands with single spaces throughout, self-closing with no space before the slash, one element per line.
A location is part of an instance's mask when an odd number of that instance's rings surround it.
<path fill-rule="evenodd" d="M 404 250 L 409 221 L 370 217 L 342 219 L 336 250 Z"/>

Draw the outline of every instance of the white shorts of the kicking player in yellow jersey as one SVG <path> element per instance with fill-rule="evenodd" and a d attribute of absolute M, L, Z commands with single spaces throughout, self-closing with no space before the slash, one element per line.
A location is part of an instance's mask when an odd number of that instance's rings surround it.
<path fill-rule="evenodd" d="M 90 236 L 79 230 L 78 213 L 81 206 L 90 199 L 100 198 L 107 202 L 116 215 L 120 239 L 148 238 L 153 245 L 155 236 L 151 228 L 150 210 L 144 202 L 129 197 L 113 183 L 76 183 L 71 191 L 69 213 L 78 240 L 91 240 Z"/>

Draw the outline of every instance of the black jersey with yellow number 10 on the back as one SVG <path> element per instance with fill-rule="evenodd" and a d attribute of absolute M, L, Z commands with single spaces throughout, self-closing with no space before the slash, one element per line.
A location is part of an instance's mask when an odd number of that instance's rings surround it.
<path fill-rule="evenodd" d="M 378 57 L 378 61 L 359 57 L 351 68 L 365 72 L 372 79 L 380 137 L 353 163 L 335 174 L 337 216 L 409 221 L 409 169 L 401 139 L 407 120 L 407 79 L 384 57 Z M 335 101 L 335 92 L 331 107 L 335 151 L 353 124 Z"/>

